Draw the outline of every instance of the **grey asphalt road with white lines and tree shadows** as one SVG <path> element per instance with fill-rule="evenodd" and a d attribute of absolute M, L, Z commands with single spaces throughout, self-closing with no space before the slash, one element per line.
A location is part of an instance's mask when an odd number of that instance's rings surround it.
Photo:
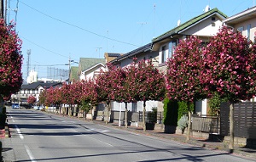
<path fill-rule="evenodd" d="M 8 109 L 12 137 L 3 156 L 13 161 L 249 161 L 157 137 L 35 110 Z M 3 159 L 6 159 L 3 157 Z"/>

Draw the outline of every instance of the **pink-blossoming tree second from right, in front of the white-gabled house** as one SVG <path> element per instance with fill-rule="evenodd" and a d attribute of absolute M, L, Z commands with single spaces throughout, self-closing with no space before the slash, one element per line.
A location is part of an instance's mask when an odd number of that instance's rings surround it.
<path fill-rule="evenodd" d="M 201 40 L 190 36 L 177 45 L 173 58 L 167 61 L 167 97 L 187 102 L 188 109 L 191 103 L 206 98 L 200 81 L 201 54 Z M 190 139 L 191 113 L 192 109 L 189 109 L 187 140 Z"/>

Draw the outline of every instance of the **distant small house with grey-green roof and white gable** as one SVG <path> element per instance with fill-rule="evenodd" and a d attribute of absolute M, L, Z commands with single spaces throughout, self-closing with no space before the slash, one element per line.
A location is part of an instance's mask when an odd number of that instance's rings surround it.
<path fill-rule="evenodd" d="M 105 59 L 80 58 L 79 60 L 79 81 L 88 78 L 95 78 L 101 69 L 105 69 Z"/>

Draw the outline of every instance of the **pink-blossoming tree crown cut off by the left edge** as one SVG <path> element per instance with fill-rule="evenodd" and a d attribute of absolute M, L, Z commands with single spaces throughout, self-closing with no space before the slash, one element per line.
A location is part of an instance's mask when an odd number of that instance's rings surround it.
<path fill-rule="evenodd" d="M 18 92 L 22 84 L 21 40 L 14 25 L 5 25 L 0 20 L 0 102 L 4 97 Z"/>

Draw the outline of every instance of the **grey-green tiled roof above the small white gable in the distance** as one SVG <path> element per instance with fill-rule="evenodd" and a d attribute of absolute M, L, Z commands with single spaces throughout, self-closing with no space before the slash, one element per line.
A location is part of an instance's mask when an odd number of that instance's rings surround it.
<path fill-rule="evenodd" d="M 80 58 L 78 73 L 80 73 L 84 70 L 87 70 L 91 66 L 98 64 L 98 63 L 105 64 L 106 60 L 105 59 L 95 59 L 95 58 Z"/>

